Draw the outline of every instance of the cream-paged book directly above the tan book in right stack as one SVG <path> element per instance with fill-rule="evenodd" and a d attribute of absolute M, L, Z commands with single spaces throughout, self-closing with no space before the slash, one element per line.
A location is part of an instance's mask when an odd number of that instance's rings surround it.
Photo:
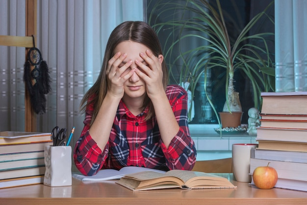
<path fill-rule="evenodd" d="M 257 127 L 256 140 L 276 140 L 307 143 L 307 129 Z"/>

